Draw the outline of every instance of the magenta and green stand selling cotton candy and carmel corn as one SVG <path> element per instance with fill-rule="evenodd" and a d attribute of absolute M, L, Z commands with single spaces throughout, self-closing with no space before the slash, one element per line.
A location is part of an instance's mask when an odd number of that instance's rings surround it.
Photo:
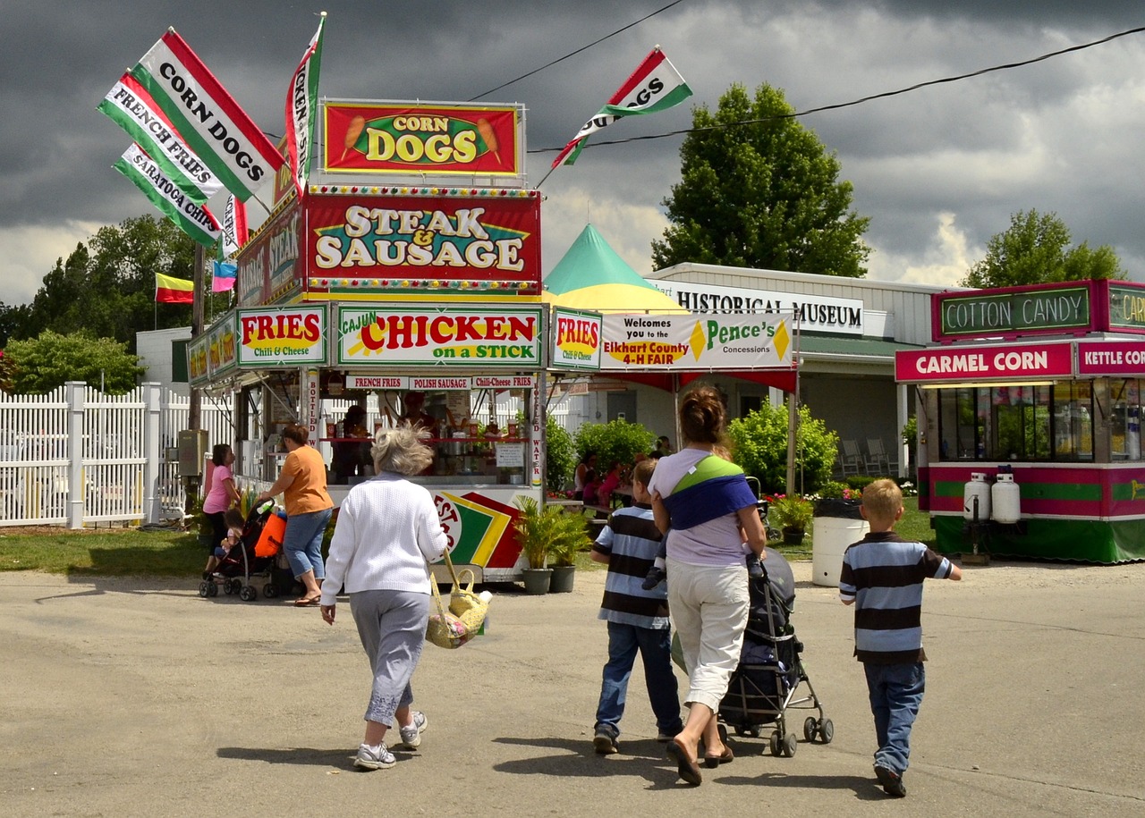
<path fill-rule="evenodd" d="M 1145 558 L 1145 285 L 1087 280 L 935 294 L 937 346 L 895 354 L 919 391 L 919 509 L 938 548 Z M 984 485 L 985 484 L 985 485 Z M 993 484 L 993 487 L 990 485 Z M 1017 485 L 1017 514 L 972 498 Z"/>

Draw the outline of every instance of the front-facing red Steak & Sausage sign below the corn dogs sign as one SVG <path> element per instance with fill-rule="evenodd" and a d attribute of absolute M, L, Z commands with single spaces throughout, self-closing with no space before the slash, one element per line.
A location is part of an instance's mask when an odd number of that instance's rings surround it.
<path fill-rule="evenodd" d="M 308 198 L 310 292 L 540 292 L 540 197 Z"/>

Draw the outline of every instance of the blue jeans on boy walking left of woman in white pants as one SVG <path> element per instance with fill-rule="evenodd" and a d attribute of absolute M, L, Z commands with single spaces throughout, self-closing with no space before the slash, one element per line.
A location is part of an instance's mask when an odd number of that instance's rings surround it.
<path fill-rule="evenodd" d="M 640 628 L 635 625 L 608 624 L 608 662 L 600 685 L 597 705 L 597 728 L 607 726 L 613 737 L 621 734 L 621 716 L 629 690 L 629 677 L 637 651 L 643 659 L 648 700 L 661 732 L 676 734 L 680 722 L 680 694 L 672 673 L 672 638 L 668 628 Z"/>

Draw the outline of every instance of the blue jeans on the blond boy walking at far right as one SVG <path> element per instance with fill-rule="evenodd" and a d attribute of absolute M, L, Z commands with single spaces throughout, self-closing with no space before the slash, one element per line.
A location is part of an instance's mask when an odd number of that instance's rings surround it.
<path fill-rule="evenodd" d="M 870 712 L 875 715 L 875 737 L 878 739 L 875 764 L 901 776 L 910 761 L 910 726 L 923 704 L 926 670 L 921 661 L 905 665 L 863 662 L 863 670 L 867 672 Z"/>

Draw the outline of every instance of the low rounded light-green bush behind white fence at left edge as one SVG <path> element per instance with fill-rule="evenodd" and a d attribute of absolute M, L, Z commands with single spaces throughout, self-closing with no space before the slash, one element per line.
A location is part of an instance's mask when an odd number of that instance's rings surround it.
<path fill-rule="evenodd" d="M 3 357 L 10 359 L 17 395 L 46 395 L 66 381 L 96 388 L 102 383 L 104 391 L 121 395 L 134 389 L 144 372 L 127 344 L 87 332 L 60 335 L 46 329 L 35 339 L 11 341 Z"/>

